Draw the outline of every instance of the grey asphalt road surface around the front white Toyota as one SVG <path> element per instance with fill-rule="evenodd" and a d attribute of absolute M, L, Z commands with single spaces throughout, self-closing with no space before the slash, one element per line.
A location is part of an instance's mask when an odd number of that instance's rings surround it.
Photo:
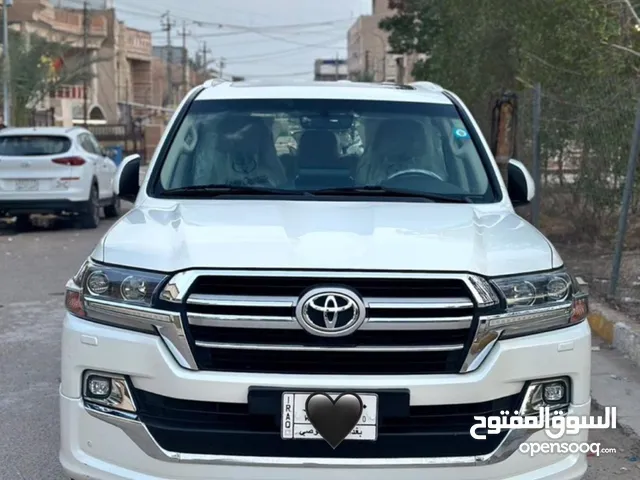
<path fill-rule="evenodd" d="M 16 234 L 0 226 L 0 480 L 63 479 L 58 465 L 60 325 L 67 279 L 113 222 Z M 617 453 L 590 458 L 588 480 L 640 478 L 640 443 L 593 431 Z"/>

